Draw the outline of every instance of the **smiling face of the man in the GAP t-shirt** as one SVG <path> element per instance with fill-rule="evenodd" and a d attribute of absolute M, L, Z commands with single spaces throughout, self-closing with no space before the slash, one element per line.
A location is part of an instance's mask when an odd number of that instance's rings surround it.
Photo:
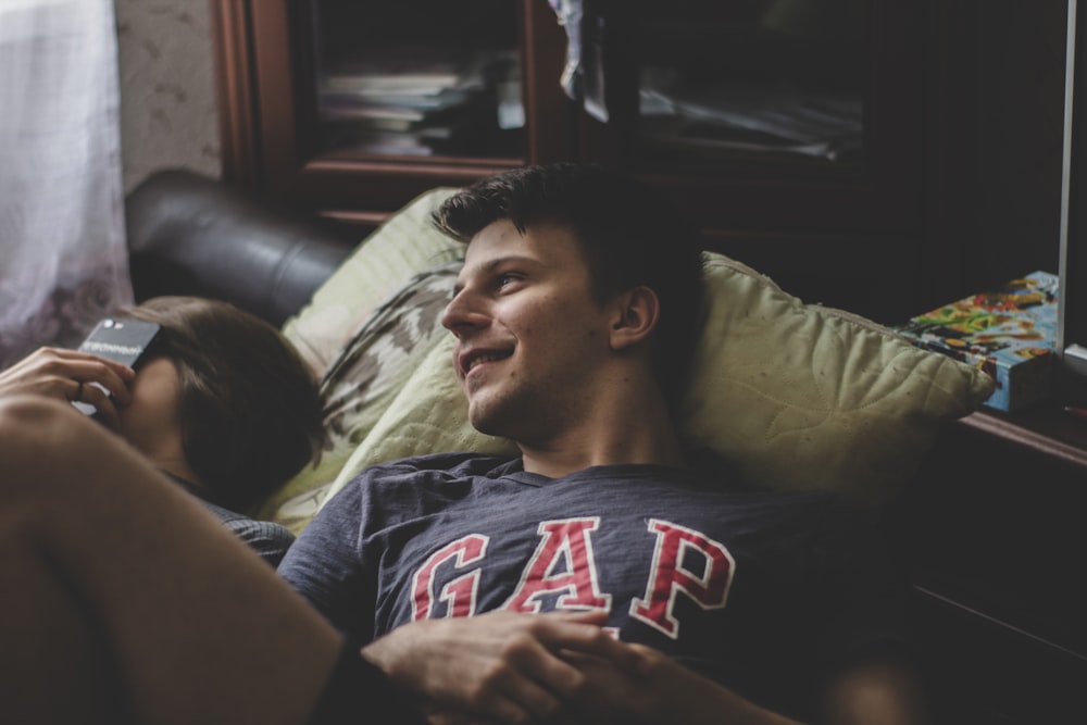
<path fill-rule="evenodd" d="M 610 354 L 611 307 L 594 299 L 569 230 L 522 236 L 502 220 L 476 235 L 442 316 L 472 424 L 534 442 L 584 420 Z"/>

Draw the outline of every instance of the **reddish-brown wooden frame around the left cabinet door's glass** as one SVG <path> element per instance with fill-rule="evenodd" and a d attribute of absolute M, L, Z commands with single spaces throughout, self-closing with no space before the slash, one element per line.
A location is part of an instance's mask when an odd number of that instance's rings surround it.
<path fill-rule="evenodd" d="M 527 142 L 517 159 L 311 157 L 303 66 L 292 48 L 297 0 L 212 0 L 223 173 L 230 182 L 363 224 L 383 221 L 425 188 L 462 185 L 521 163 L 563 158 L 573 107 L 558 85 L 564 36 L 546 2 L 518 0 Z M 550 82 L 549 82 L 550 79 Z M 365 199 L 365 203 L 361 200 Z"/>

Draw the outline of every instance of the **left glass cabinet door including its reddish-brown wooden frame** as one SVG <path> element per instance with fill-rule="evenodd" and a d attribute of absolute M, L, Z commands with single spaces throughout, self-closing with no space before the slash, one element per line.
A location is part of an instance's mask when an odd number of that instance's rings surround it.
<path fill-rule="evenodd" d="M 565 158 L 548 0 L 213 0 L 224 176 L 374 226 L 436 186 Z"/>

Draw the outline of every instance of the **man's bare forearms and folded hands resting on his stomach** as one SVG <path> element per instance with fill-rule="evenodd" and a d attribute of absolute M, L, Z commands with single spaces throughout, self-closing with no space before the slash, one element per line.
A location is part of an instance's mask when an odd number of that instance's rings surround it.
<path fill-rule="evenodd" d="M 362 652 L 426 703 L 433 725 L 798 725 L 659 650 L 613 639 L 600 628 L 604 621 L 512 612 L 427 620 Z M 828 723 L 928 722 L 905 670 L 871 663 L 833 682 Z"/>

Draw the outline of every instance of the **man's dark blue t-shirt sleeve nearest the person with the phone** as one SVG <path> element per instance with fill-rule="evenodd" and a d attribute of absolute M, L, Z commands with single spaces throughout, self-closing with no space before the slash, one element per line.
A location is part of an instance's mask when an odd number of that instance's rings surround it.
<path fill-rule="evenodd" d="M 278 572 L 333 626 L 367 642 L 373 622 L 373 587 L 362 552 L 364 476 L 351 482 L 322 507 L 279 563 Z"/>

